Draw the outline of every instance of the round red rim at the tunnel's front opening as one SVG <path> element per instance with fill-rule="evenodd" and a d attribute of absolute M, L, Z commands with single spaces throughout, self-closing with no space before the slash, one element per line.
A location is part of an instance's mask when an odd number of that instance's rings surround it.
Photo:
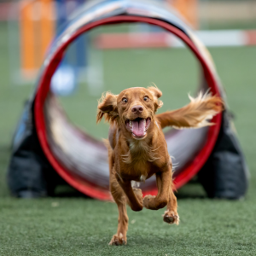
<path fill-rule="evenodd" d="M 142 16 L 119 15 L 119 16 L 113 16 L 113 17 L 91 22 L 90 24 L 82 26 L 77 32 L 75 32 L 73 36 L 69 38 L 65 44 L 62 44 L 61 48 L 59 48 L 55 52 L 55 55 L 50 61 L 48 67 L 45 68 L 44 73 L 42 74 L 38 82 L 38 91 L 35 97 L 35 104 L 34 104 L 36 131 L 38 133 L 39 143 L 41 144 L 41 147 L 44 150 L 44 154 L 49 160 L 49 163 L 55 168 L 55 171 L 64 180 L 66 180 L 67 183 L 72 185 L 73 188 L 78 189 L 80 192 L 84 193 L 85 195 L 89 195 L 90 197 L 93 197 L 99 200 L 105 200 L 105 201 L 112 200 L 112 197 L 107 190 L 98 188 L 96 186 L 92 186 L 89 183 L 88 184 L 80 183 L 79 180 L 75 179 L 75 177 L 73 177 L 73 175 L 71 175 L 66 170 L 65 167 L 61 166 L 58 160 L 55 159 L 55 156 L 51 153 L 51 150 L 49 148 L 49 143 L 46 137 L 46 127 L 44 123 L 44 101 L 49 91 L 49 82 L 52 76 L 52 75 L 49 76 L 49 73 L 54 73 L 55 68 L 57 67 L 56 63 L 54 64 L 53 62 L 56 61 L 57 63 L 59 63 L 60 60 L 58 59 L 58 57 L 67 48 L 67 45 L 70 44 L 75 38 L 79 37 L 80 34 L 87 32 L 96 26 L 107 25 L 110 23 L 121 23 L 121 22 L 143 22 L 143 23 L 148 23 L 155 26 L 160 26 L 166 29 L 167 31 L 172 32 L 174 35 L 180 38 L 183 41 L 183 43 L 185 43 L 189 47 L 189 49 L 191 49 L 191 51 L 195 54 L 195 57 L 198 59 L 198 61 L 201 62 L 201 66 L 204 68 L 207 84 L 212 89 L 213 94 L 220 96 L 217 80 L 214 77 L 214 74 L 212 73 L 210 67 L 208 67 L 207 62 L 202 57 L 200 51 L 196 49 L 195 44 L 184 32 L 178 30 L 177 27 L 172 26 L 163 20 L 156 20 L 154 18 L 148 18 L 148 17 L 142 17 Z M 197 172 L 200 171 L 201 167 L 205 164 L 209 155 L 211 154 L 212 149 L 218 138 L 218 133 L 219 133 L 221 122 L 222 122 L 222 114 L 219 113 L 217 116 L 215 116 L 213 121 L 215 122 L 216 125 L 211 126 L 209 128 L 207 133 L 207 143 L 203 146 L 203 148 L 201 148 L 201 151 L 199 152 L 199 154 L 196 155 L 195 160 L 193 160 L 193 162 L 191 162 L 189 166 L 187 166 L 183 170 L 183 172 L 179 173 L 175 178 L 174 183 L 176 185 L 176 189 L 179 189 L 181 186 L 183 186 L 183 184 L 189 182 L 189 180 L 192 177 L 194 177 Z M 148 194 L 156 195 L 157 189 L 148 190 L 144 193 L 144 195 L 148 195 Z"/>

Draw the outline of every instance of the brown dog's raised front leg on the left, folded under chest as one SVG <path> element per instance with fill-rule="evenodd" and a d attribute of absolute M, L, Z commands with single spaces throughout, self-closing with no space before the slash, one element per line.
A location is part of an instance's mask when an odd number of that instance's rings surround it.
<path fill-rule="evenodd" d="M 124 190 L 125 195 L 128 198 L 128 204 L 131 207 L 131 210 L 135 212 L 139 212 L 143 210 L 143 196 L 134 194 L 133 189 L 131 188 L 131 180 L 123 180 L 119 177 L 118 174 L 115 174 L 115 177 L 121 186 L 121 188 Z"/>

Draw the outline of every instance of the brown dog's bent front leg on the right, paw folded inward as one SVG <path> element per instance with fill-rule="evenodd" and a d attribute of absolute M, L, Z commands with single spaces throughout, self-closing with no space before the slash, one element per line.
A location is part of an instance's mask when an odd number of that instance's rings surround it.
<path fill-rule="evenodd" d="M 150 210 L 158 210 L 166 207 L 169 201 L 169 190 L 172 186 L 172 167 L 166 166 L 165 170 L 156 173 L 156 183 L 158 187 L 158 194 L 146 195 L 143 198 L 143 206 Z"/>

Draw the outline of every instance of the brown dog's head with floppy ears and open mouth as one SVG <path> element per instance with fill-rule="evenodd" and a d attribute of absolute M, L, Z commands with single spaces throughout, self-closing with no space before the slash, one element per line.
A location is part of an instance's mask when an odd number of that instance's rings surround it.
<path fill-rule="evenodd" d="M 133 87 L 119 95 L 109 92 L 102 96 L 98 104 L 97 122 L 103 116 L 110 123 L 116 121 L 135 139 L 147 137 L 147 131 L 154 120 L 154 113 L 161 108 L 162 93 L 156 87 Z"/>

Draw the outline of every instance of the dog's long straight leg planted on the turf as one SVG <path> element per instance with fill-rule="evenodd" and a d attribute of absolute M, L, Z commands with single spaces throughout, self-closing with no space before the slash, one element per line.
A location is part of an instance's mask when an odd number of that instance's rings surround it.
<path fill-rule="evenodd" d="M 114 170 L 113 170 L 114 172 Z M 110 191 L 113 195 L 113 200 L 116 202 L 119 209 L 119 224 L 118 230 L 113 235 L 109 245 L 123 245 L 126 244 L 126 233 L 128 230 L 128 215 L 126 211 L 126 197 L 123 189 L 119 186 L 113 172 L 110 173 Z"/>

